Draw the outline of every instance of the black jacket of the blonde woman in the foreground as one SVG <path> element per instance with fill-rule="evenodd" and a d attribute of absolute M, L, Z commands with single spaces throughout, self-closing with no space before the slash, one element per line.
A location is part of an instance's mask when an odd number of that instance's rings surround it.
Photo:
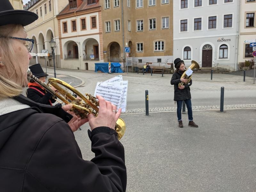
<path fill-rule="evenodd" d="M 29 104 L 26 98 L 18 100 Z M 0 191 L 125 191 L 124 147 L 113 129 L 93 129 L 95 157 L 87 161 L 65 122 L 70 115 L 58 107 L 30 104 L 0 116 Z"/>

